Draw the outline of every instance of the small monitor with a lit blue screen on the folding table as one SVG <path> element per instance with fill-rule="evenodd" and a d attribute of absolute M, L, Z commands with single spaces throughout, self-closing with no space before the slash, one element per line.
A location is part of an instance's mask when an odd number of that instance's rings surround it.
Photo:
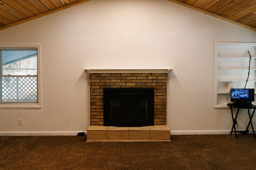
<path fill-rule="evenodd" d="M 231 102 L 254 102 L 254 88 L 230 89 Z"/>

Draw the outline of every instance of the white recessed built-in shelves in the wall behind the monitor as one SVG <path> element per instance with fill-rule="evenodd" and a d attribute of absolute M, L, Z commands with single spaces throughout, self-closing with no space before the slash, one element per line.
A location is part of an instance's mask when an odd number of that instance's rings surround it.
<path fill-rule="evenodd" d="M 228 108 L 229 83 L 236 88 L 256 88 L 256 43 L 215 43 L 214 50 L 214 107 Z"/>

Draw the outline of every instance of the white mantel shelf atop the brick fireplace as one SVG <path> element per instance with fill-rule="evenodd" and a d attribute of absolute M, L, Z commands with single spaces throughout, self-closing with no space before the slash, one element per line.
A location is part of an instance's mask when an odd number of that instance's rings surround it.
<path fill-rule="evenodd" d="M 86 77 L 90 79 L 90 73 L 167 73 L 167 78 L 174 68 L 84 68 Z"/>

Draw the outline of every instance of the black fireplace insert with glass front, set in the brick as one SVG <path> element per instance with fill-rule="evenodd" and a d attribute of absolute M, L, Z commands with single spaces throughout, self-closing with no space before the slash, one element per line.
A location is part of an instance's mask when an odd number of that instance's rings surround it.
<path fill-rule="evenodd" d="M 154 125 L 154 88 L 104 88 L 104 126 Z"/>

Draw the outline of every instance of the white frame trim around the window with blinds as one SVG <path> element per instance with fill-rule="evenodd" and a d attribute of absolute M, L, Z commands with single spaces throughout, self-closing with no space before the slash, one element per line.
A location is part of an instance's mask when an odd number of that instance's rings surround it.
<path fill-rule="evenodd" d="M 0 44 L 0 48 L 36 48 L 37 49 L 37 103 L 0 103 L 0 108 L 42 108 L 41 92 L 41 44 Z"/>

